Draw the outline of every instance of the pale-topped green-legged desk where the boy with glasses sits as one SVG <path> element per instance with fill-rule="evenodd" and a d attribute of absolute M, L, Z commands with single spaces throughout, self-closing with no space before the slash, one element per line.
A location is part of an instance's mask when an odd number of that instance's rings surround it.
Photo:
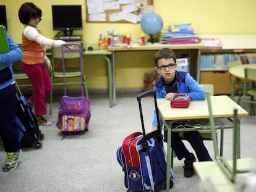
<path fill-rule="evenodd" d="M 171 108 L 170 101 L 166 99 L 157 99 L 158 110 L 160 112 L 160 119 L 163 121 L 167 128 L 167 166 L 166 166 L 166 180 L 170 177 L 170 158 L 171 158 L 171 132 L 172 131 L 200 131 L 200 130 L 210 130 L 210 127 L 197 128 L 171 128 L 173 122 L 180 120 L 190 120 L 190 119 L 208 119 L 208 104 L 207 99 L 203 101 L 191 101 L 190 105 L 186 109 L 182 108 Z M 248 112 L 245 111 L 239 104 L 233 101 L 226 95 L 223 96 L 211 96 L 211 106 L 213 111 L 213 118 L 221 117 L 233 117 L 234 108 L 237 109 L 238 117 L 247 116 Z M 220 126 L 220 129 L 233 128 Z M 238 125 L 238 138 L 239 143 L 237 144 L 237 157 L 240 158 L 240 125 Z M 166 183 L 166 191 L 169 190 L 169 182 Z"/>

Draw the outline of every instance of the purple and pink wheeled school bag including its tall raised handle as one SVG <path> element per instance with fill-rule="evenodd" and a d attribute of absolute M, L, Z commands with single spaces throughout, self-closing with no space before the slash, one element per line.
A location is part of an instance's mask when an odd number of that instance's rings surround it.
<path fill-rule="evenodd" d="M 65 49 L 66 46 L 74 46 L 74 49 Z M 81 92 L 82 96 L 67 96 L 64 54 L 78 53 L 80 56 Z M 82 75 L 82 49 L 80 43 L 66 43 L 61 45 L 62 68 L 64 80 L 64 96 L 61 97 L 56 127 L 62 132 L 87 131 L 91 117 L 90 101 L 83 96 Z"/>

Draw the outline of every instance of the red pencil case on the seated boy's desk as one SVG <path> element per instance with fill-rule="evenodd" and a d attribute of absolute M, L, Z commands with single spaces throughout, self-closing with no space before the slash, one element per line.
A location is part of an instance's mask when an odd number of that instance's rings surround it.
<path fill-rule="evenodd" d="M 189 107 L 191 96 L 188 93 L 177 93 L 174 94 L 171 99 L 172 108 L 187 108 Z"/>

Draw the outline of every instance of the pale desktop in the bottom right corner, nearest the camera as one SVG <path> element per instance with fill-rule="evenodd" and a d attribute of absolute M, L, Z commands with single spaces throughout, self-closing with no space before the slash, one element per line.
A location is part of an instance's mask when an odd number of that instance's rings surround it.
<path fill-rule="evenodd" d="M 237 159 L 237 169 L 241 170 L 255 170 L 256 159 Z M 229 165 L 232 167 L 233 161 L 228 161 Z M 223 171 L 220 169 L 216 161 L 206 161 L 206 162 L 194 162 L 193 164 L 195 173 L 197 173 L 200 180 L 203 183 L 204 191 L 228 191 L 236 192 L 239 182 L 245 181 L 250 173 L 239 173 L 237 175 L 236 182 L 231 182 Z"/>

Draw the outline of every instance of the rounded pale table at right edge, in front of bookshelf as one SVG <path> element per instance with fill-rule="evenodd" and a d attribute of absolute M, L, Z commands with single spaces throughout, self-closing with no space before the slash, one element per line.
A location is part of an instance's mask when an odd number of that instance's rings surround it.
<path fill-rule="evenodd" d="M 244 79 L 244 69 L 245 68 L 253 68 L 256 69 L 256 64 L 244 64 L 238 65 L 235 67 L 231 67 L 229 69 L 229 73 L 236 78 Z M 232 91 L 231 91 L 231 99 L 234 99 L 234 81 L 232 81 Z"/>

